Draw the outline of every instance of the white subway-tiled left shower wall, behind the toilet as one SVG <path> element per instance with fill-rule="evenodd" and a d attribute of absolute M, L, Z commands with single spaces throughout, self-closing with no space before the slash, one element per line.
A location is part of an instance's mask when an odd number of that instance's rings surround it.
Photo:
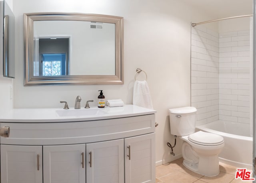
<path fill-rule="evenodd" d="M 218 120 L 219 34 L 198 26 L 192 28 L 191 39 L 191 103 L 200 125 Z"/>

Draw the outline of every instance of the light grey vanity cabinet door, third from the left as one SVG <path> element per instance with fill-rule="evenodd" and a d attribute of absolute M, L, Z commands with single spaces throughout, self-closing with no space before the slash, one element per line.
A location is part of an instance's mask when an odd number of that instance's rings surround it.
<path fill-rule="evenodd" d="M 86 144 L 86 183 L 124 183 L 124 140 Z"/>

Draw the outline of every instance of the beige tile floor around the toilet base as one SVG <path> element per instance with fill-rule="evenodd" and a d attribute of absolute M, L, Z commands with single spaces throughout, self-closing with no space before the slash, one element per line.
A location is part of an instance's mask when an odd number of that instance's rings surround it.
<path fill-rule="evenodd" d="M 236 167 L 220 163 L 220 174 L 205 177 L 190 171 L 182 164 L 183 159 L 176 159 L 156 167 L 156 183 L 252 183 L 235 179 Z"/>

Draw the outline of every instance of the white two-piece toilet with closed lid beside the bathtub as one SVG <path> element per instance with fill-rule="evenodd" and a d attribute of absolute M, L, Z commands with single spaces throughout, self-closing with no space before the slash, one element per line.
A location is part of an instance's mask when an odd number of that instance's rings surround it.
<path fill-rule="evenodd" d="M 170 131 L 182 142 L 183 165 L 207 177 L 220 173 L 219 153 L 224 147 L 222 136 L 196 129 L 196 108 L 182 107 L 169 109 Z"/>

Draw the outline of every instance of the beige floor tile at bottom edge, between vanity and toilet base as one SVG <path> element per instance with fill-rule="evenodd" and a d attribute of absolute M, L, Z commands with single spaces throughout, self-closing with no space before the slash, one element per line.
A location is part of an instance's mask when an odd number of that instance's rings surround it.
<path fill-rule="evenodd" d="M 161 180 L 164 181 L 164 183 L 193 183 L 198 179 L 186 173 L 177 171 L 174 173 L 170 173 L 164 177 L 161 177 Z"/>

